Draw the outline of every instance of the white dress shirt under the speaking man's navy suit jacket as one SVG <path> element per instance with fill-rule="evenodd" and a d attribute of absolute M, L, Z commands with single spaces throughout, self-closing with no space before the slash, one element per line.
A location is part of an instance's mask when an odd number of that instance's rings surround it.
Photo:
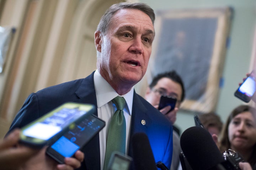
<path fill-rule="evenodd" d="M 116 111 L 116 106 L 111 100 L 117 96 L 117 92 L 111 87 L 110 84 L 100 75 L 98 70 L 94 73 L 94 86 L 97 98 L 98 117 L 106 122 L 106 126 L 100 131 L 100 158 L 101 170 L 103 170 L 105 151 L 106 151 L 106 136 L 110 119 Z M 122 95 L 126 100 L 124 106 L 124 117 L 126 119 L 126 154 L 128 153 L 128 141 L 130 132 L 130 118 L 132 115 L 134 87 L 125 95 Z"/>

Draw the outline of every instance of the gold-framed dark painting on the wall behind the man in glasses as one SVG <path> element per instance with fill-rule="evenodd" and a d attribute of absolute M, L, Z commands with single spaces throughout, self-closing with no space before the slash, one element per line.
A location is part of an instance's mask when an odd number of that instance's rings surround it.
<path fill-rule="evenodd" d="M 231 7 L 157 11 L 148 83 L 175 70 L 186 91 L 181 109 L 215 111 L 232 14 Z"/>

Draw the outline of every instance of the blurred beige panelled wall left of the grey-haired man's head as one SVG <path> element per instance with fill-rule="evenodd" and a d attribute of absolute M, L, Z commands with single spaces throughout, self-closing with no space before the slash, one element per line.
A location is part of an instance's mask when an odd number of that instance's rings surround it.
<path fill-rule="evenodd" d="M 14 26 L 17 31 L 0 74 L 0 137 L 29 94 L 84 78 L 96 69 L 94 32 L 100 17 L 115 2 L 5 1 L 0 26 Z"/>

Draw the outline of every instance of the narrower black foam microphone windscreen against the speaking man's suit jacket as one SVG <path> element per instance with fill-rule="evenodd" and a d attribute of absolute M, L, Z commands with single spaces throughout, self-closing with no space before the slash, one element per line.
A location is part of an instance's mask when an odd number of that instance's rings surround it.
<path fill-rule="evenodd" d="M 132 136 L 133 163 L 135 170 L 157 170 L 148 136 L 139 132 Z"/>

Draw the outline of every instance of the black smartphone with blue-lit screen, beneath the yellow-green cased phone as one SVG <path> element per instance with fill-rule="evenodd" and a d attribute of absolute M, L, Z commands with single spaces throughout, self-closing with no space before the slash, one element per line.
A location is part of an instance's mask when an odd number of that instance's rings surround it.
<path fill-rule="evenodd" d="M 73 157 L 75 152 L 86 145 L 104 126 L 105 121 L 95 115 L 89 115 L 49 146 L 46 153 L 63 164 L 65 157 Z"/>

